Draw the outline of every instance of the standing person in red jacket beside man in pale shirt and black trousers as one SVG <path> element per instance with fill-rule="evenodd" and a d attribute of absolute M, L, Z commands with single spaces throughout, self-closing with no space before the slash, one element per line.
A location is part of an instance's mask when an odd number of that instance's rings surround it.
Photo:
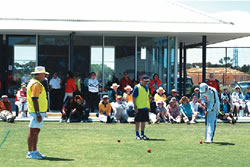
<path fill-rule="evenodd" d="M 74 76 L 72 72 L 67 73 L 67 80 L 65 83 L 65 96 L 63 101 L 67 99 L 67 97 L 73 97 L 73 93 L 76 91 L 76 84 L 74 81 Z"/>

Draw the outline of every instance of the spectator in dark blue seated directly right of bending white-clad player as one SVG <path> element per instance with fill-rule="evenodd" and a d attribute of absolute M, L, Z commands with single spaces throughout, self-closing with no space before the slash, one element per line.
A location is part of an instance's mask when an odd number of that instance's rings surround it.
<path fill-rule="evenodd" d="M 232 107 L 227 101 L 227 98 L 226 96 L 222 97 L 218 118 L 221 120 L 228 120 L 230 123 L 234 124 L 236 120 L 233 118 Z"/>

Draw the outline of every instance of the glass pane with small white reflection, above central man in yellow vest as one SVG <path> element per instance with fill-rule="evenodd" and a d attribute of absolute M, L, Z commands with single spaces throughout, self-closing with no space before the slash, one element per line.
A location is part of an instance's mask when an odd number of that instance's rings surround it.
<path fill-rule="evenodd" d="M 161 86 L 167 88 L 167 38 L 138 37 L 137 39 L 137 80 L 143 74 L 151 79 L 159 74 Z"/>

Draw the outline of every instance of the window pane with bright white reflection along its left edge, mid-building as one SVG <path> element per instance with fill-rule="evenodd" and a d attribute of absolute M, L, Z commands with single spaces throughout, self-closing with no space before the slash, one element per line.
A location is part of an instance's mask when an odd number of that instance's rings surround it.
<path fill-rule="evenodd" d="M 105 88 L 120 82 L 127 72 L 131 80 L 135 74 L 135 37 L 105 37 L 104 48 Z"/>

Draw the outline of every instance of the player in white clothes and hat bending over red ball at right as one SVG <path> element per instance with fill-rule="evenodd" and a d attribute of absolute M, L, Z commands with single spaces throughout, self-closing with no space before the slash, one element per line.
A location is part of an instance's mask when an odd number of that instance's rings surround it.
<path fill-rule="evenodd" d="M 212 143 L 217 123 L 216 117 L 220 108 L 219 95 L 215 88 L 206 83 L 200 84 L 200 93 L 202 102 L 207 105 L 205 143 Z"/>

